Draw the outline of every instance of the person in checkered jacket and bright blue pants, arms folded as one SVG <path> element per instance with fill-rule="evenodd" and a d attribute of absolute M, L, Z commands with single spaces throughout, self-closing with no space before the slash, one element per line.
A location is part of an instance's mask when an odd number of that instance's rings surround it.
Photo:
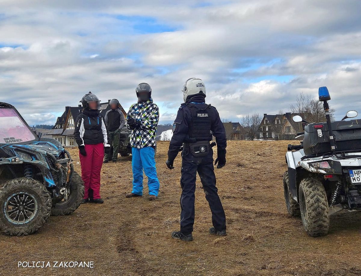
<path fill-rule="evenodd" d="M 126 197 L 143 195 L 143 169 L 148 177 L 149 200 L 154 200 L 159 192 L 159 180 L 154 159 L 156 130 L 159 121 L 159 108 L 153 103 L 152 88 L 147 83 L 139 84 L 135 89 L 138 102 L 132 104 L 127 113 L 126 125 L 132 130 L 133 189 Z"/>

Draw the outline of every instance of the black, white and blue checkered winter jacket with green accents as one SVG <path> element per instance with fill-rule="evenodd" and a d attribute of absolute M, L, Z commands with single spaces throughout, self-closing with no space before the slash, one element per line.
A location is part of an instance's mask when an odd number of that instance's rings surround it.
<path fill-rule="evenodd" d="M 150 98 L 146 102 L 132 104 L 126 118 L 140 121 L 140 129 L 134 129 L 130 136 L 130 145 L 135 148 L 144 148 L 156 145 L 156 131 L 159 121 L 159 108 Z"/>

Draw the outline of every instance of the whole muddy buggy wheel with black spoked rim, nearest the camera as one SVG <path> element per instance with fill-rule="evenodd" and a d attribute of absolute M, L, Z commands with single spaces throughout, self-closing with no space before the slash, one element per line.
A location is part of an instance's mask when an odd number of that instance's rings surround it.
<path fill-rule="evenodd" d="M 0 232 L 30 235 L 43 227 L 51 213 L 51 196 L 32 178 L 15 178 L 0 189 Z"/>

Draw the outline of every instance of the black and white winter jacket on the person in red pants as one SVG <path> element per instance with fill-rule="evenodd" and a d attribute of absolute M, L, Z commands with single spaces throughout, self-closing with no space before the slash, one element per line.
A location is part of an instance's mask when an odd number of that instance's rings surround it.
<path fill-rule="evenodd" d="M 74 137 L 78 146 L 99 143 L 104 143 L 105 147 L 110 146 L 105 122 L 99 115 L 99 111 L 83 110 L 79 114 L 75 121 Z"/>

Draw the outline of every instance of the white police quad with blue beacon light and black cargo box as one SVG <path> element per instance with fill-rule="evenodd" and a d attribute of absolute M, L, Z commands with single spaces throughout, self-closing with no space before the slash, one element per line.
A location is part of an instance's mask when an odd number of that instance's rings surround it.
<path fill-rule="evenodd" d="M 329 231 L 330 215 L 341 210 L 361 210 L 361 120 L 348 111 L 341 121 L 331 123 L 330 94 L 319 88 L 326 123 L 307 123 L 300 116 L 304 132 L 297 133 L 300 145 L 288 145 L 284 173 L 284 198 L 288 213 L 301 215 L 305 231 L 312 237 Z"/>

